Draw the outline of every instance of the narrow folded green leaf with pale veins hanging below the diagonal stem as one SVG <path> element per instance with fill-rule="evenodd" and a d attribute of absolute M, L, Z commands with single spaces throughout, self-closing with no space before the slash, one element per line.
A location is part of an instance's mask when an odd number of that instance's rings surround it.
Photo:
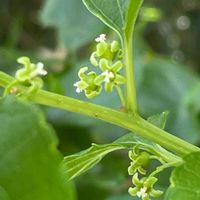
<path fill-rule="evenodd" d="M 94 167 L 108 153 L 121 149 L 130 149 L 133 148 L 135 144 L 141 144 L 143 149 L 161 151 L 154 143 L 143 139 L 137 134 L 129 133 L 111 144 L 92 144 L 92 147 L 89 149 L 74 155 L 66 156 L 63 161 L 63 165 L 66 167 L 65 173 L 69 179 L 73 179 Z"/>

